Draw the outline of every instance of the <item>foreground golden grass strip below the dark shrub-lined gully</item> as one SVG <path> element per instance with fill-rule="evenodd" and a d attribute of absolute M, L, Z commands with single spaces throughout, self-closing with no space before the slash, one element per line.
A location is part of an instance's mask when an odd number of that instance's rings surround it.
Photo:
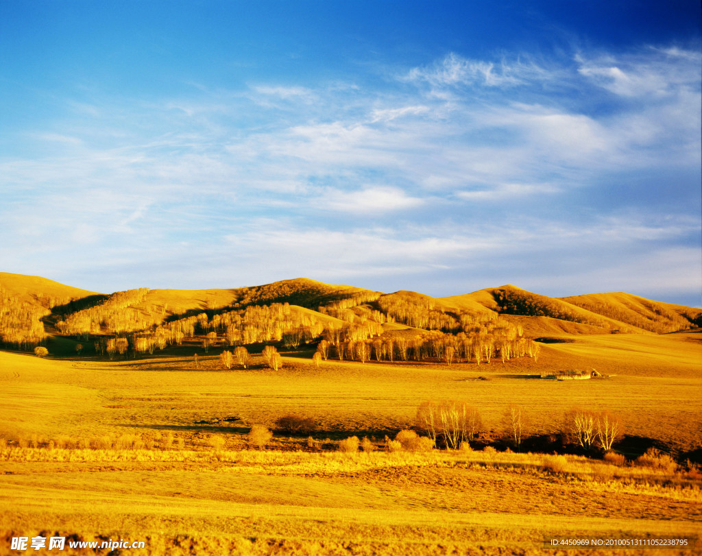
<path fill-rule="evenodd" d="M 699 479 L 578 456 L 6 447 L 0 460 L 6 538 L 101 534 L 150 554 L 524 553 L 552 536 L 702 532 Z"/>

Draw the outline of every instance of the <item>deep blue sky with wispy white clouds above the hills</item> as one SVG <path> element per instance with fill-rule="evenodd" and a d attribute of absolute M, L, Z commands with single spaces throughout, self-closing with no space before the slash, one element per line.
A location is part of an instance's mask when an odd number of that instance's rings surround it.
<path fill-rule="evenodd" d="M 697 4 L 0 0 L 1 270 L 700 305 Z"/>

